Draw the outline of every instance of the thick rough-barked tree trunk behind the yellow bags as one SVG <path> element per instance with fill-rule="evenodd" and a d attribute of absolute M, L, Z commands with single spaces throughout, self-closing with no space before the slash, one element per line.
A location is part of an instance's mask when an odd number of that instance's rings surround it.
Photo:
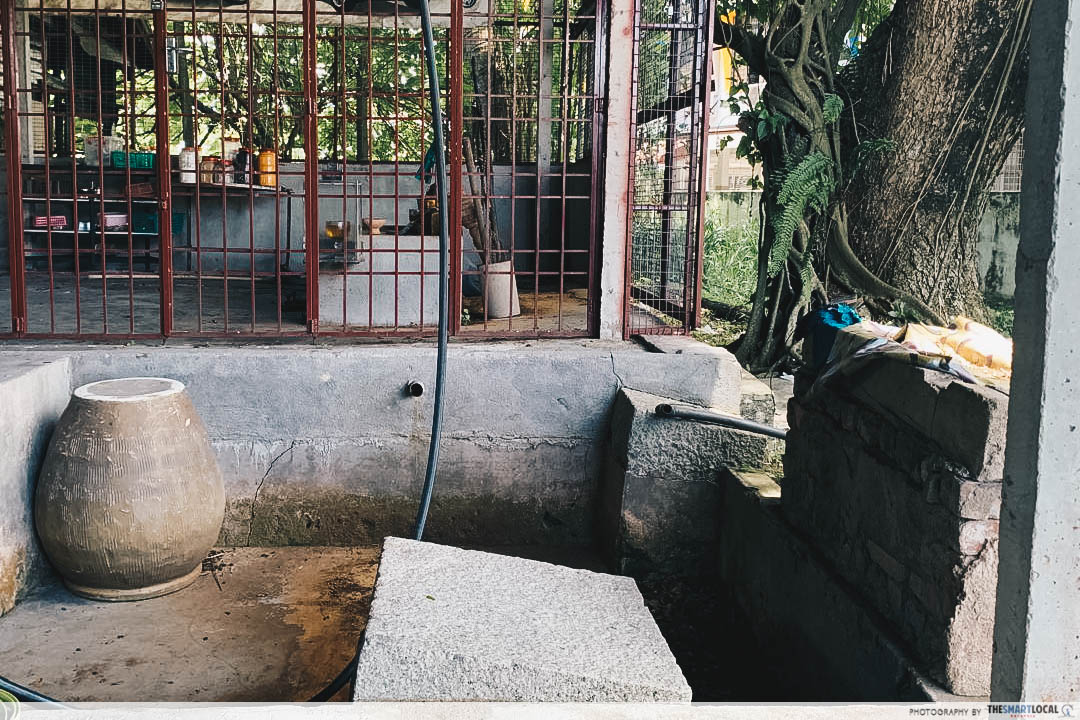
<path fill-rule="evenodd" d="M 899 0 L 841 72 L 850 242 L 885 282 L 937 314 L 982 314 L 975 244 L 987 188 L 1020 137 L 1031 0 Z M 849 160 L 848 164 L 855 162 Z"/>

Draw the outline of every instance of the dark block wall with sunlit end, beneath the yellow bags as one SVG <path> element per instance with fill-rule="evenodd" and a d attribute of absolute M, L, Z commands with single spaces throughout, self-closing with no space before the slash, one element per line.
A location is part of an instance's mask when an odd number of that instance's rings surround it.
<path fill-rule="evenodd" d="M 784 517 L 960 695 L 990 688 L 1007 403 L 878 361 L 788 405 Z"/>

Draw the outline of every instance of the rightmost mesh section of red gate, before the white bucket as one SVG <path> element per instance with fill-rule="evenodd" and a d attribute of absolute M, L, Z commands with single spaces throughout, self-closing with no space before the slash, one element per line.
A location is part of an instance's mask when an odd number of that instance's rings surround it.
<path fill-rule="evenodd" d="M 595 0 L 465 3 L 462 334 L 593 331 L 602 17 Z"/>

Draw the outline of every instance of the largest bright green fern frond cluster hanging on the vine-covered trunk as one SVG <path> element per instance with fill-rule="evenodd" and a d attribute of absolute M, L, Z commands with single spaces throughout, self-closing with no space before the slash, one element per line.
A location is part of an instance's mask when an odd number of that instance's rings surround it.
<path fill-rule="evenodd" d="M 833 161 L 821 152 L 811 152 L 795 167 L 782 171 L 778 182 L 777 212 L 773 213 L 772 248 L 769 252 L 769 276 L 784 267 L 792 241 L 807 210 L 823 213 L 833 193 Z M 810 253 L 808 252 L 807 255 Z"/>

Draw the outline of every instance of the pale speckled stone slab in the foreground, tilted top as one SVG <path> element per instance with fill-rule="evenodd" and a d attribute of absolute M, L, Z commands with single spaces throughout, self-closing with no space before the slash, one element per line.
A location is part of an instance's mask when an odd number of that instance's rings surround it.
<path fill-rule="evenodd" d="M 689 702 L 634 581 L 387 538 L 356 701 Z"/>

